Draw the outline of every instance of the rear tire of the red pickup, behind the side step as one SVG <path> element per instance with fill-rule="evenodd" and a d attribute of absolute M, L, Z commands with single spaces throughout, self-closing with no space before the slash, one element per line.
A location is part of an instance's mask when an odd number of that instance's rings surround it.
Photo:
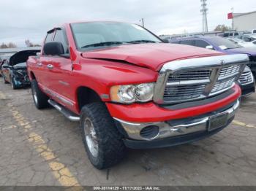
<path fill-rule="evenodd" d="M 37 109 L 44 109 L 49 106 L 48 104 L 48 96 L 45 95 L 45 93 L 42 92 L 42 90 L 39 89 L 37 80 L 32 79 L 31 81 L 31 90 L 34 100 L 34 105 L 37 107 Z M 37 100 L 35 98 L 37 97 Z"/>

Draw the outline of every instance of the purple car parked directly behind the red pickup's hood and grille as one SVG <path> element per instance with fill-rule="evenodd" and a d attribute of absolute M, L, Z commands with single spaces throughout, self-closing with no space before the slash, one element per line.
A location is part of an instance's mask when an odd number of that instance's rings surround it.
<path fill-rule="evenodd" d="M 222 37 L 214 36 L 203 36 L 203 37 L 192 37 L 192 38 L 183 38 L 183 39 L 177 39 L 171 41 L 171 43 L 176 44 L 187 44 L 191 46 L 196 47 L 204 47 L 211 50 L 217 50 L 219 52 L 224 52 L 225 54 L 238 54 L 238 53 L 244 53 L 246 55 L 249 55 L 250 63 L 248 66 L 252 67 L 254 71 L 255 68 L 255 58 L 256 58 L 256 49 L 255 48 L 244 48 L 241 47 L 239 44 L 235 44 L 233 42 L 230 42 L 228 39 L 224 39 Z M 248 73 L 248 69 L 244 71 L 244 75 L 248 77 L 250 80 L 249 82 L 246 82 L 246 84 L 241 83 L 241 89 L 243 90 L 242 95 L 249 95 L 250 93 L 255 92 L 255 82 L 254 78 L 251 77 L 251 71 Z"/>

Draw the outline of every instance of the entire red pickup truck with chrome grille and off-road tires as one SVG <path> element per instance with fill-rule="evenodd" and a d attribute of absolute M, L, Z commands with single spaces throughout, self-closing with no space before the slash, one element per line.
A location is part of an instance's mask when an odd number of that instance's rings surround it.
<path fill-rule="evenodd" d="M 48 31 L 27 61 L 38 109 L 80 121 L 96 168 L 126 147 L 170 147 L 206 138 L 233 120 L 246 55 L 167 44 L 141 26 L 67 23 Z"/>

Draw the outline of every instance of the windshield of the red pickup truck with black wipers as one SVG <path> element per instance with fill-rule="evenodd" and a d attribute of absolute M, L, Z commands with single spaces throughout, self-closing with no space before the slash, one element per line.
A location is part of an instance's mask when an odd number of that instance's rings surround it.
<path fill-rule="evenodd" d="M 78 49 L 94 49 L 120 44 L 161 42 L 146 29 L 130 23 L 73 23 L 72 32 Z"/>

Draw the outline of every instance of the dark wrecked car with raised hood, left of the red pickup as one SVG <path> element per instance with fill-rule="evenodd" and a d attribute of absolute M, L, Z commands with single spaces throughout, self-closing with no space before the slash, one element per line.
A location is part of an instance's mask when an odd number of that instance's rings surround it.
<path fill-rule="evenodd" d="M 26 69 L 26 60 L 30 55 L 37 55 L 39 50 L 22 50 L 8 58 L 1 66 L 4 83 L 10 82 L 12 89 L 30 85 Z"/>

